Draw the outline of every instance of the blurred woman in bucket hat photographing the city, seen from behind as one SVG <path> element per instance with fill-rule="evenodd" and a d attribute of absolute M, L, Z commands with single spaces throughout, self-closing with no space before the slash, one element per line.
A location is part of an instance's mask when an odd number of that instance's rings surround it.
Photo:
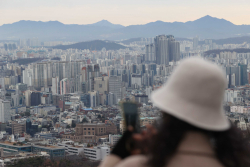
<path fill-rule="evenodd" d="M 101 167 L 248 167 L 248 142 L 223 111 L 224 72 L 200 58 L 182 61 L 151 100 L 163 113 L 159 129 L 125 132 Z M 137 141 L 129 150 L 128 141 Z M 138 154 L 138 155 L 134 155 Z"/>

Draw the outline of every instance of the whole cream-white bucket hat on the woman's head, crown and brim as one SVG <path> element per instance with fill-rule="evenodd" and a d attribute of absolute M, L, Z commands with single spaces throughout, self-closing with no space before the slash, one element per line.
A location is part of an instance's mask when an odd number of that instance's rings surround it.
<path fill-rule="evenodd" d="M 163 112 L 193 126 L 224 131 L 230 128 L 223 110 L 225 76 L 220 67 L 201 58 L 185 59 L 151 100 Z"/>

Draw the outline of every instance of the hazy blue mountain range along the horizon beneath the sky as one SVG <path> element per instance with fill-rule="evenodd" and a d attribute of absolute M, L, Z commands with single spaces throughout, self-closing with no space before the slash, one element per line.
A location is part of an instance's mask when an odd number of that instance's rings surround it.
<path fill-rule="evenodd" d="M 107 20 L 88 25 L 63 24 L 58 21 L 19 21 L 0 26 L 0 40 L 37 37 L 41 41 L 122 40 L 171 34 L 181 38 L 199 36 L 220 39 L 250 35 L 250 25 L 235 25 L 225 19 L 204 16 L 195 21 L 156 21 L 144 25 L 122 26 Z"/>

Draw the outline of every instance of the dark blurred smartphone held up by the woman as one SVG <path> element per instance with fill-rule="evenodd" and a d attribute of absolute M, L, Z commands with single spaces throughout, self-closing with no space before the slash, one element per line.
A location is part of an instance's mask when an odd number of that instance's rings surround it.
<path fill-rule="evenodd" d="M 134 128 L 134 132 L 140 132 L 140 122 L 138 115 L 138 105 L 134 102 L 122 102 L 121 107 L 123 110 L 123 116 L 125 120 L 126 128 L 128 126 L 132 126 Z"/>

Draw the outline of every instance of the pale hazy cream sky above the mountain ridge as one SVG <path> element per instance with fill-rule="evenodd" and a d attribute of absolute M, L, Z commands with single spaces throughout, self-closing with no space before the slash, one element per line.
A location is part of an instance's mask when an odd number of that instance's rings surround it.
<path fill-rule="evenodd" d="M 65 24 L 186 22 L 205 15 L 250 24 L 250 0 L 0 0 L 0 25 L 19 20 Z"/>

